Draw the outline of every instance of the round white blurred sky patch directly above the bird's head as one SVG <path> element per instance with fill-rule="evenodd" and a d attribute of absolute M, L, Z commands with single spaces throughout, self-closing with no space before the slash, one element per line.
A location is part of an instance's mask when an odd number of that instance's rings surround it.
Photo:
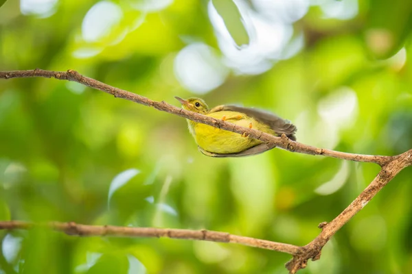
<path fill-rule="evenodd" d="M 177 54 L 174 73 L 182 86 L 203 95 L 223 84 L 229 70 L 213 48 L 196 43 Z"/>

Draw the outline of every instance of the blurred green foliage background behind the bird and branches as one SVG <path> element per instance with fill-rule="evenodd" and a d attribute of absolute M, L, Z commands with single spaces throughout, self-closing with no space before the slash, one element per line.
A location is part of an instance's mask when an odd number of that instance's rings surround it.
<path fill-rule="evenodd" d="M 275 2 L 282 6 L 236 1 L 238 10 L 216 12 L 196 0 L 10 0 L 0 8 L 0 69 L 75 69 L 175 105 L 176 95 L 196 95 L 265 108 L 317 147 L 411 149 L 411 2 Z M 249 46 L 225 44 L 229 33 Z M 275 52 L 280 34 L 287 43 Z M 55 79 L 0 83 L 1 220 L 206 228 L 305 245 L 378 173 L 280 149 L 207 158 L 177 116 Z M 301 273 L 411 273 L 411 178 L 402 171 Z M 0 239 L 0 273 L 286 273 L 290 259 L 44 229 Z"/>

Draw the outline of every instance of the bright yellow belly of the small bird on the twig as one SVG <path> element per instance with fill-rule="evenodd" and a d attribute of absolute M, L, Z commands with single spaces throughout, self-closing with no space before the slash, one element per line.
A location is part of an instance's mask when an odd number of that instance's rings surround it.
<path fill-rule="evenodd" d="M 229 119 L 230 117 L 239 114 L 242 115 L 242 119 Z M 254 129 L 259 129 L 269 134 L 274 134 L 273 130 L 268 128 L 266 125 L 262 125 L 255 119 L 239 112 L 213 112 L 207 114 L 207 116 L 211 116 L 216 119 L 222 119 L 222 116 L 227 116 L 227 122 L 229 123 L 240 125 L 241 127 L 249 127 L 249 124 L 251 123 L 252 128 Z M 262 143 L 260 140 L 243 137 L 240 134 L 228 132 L 227 130 L 218 129 L 202 123 L 190 123 L 190 127 L 191 126 L 192 134 L 194 135 L 197 145 L 205 151 L 209 151 L 211 153 L 238 153 Z"/>

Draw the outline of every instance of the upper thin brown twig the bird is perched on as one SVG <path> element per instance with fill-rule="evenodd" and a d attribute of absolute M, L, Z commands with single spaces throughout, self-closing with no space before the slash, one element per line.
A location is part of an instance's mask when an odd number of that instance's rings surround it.
<path fill-rule="evenodd" d="M 343 160 L 351 160 L 357 162 L 374 162 L 380 166 L 387 164 L 391 161 L 391 156 L 381 156 L 381 155 L 363 155 L 356 153 L 345 153 L 340 151 L 333 151 L 330 149 L 319 149 L 317 147 L 312 147 L 310 145 L 304 145 L 300 142 L 295 142 L 290 140 L 286 136 L 284 138 L 273 136 L 271 134 L 266 134 L 260 132 L 256 129 L 249 129 L 247 127 L 240 127 L 238 125 L 233 125 L 226 121 L 220 119 L 215 119 L 203 114 L 198 114 L 196 112 L 191 112 L 188 110 L 183 110 L 182 108 L 177 108 L 174 105 L 170 105 L 165 101 L 152 101 L 141 95 L 137 95 L 133 92 L 128 92 L 108 84 L 99 82 L 98 80 L 86 77 L 78 73 L 77 71 L 45 71 L 42 69 L 34 69 L 29 71 L 0 71 L 0 79 L 12 79 L 12 78 L 25 78 L 25 77 L 46 77 L 46 78 L 56 78 L 59 80 L 68 80 L 73 82 L 78 82 L 84 86 L 89 86 L 97 90 L 102 90 L 114 97 L 126 99 L 133 101 L 135 103 L 141 103 L 142 105 L 148 105 L 150 107 L 156 108 L 163 112 L 168 112 L 171 114 L 182 116 L 186 119 L 196 121 L 198 123 L 204 123 L 206 125 L 211 125 L 213 127 L 218 127 L 220 129 L 226 129 L 230 132 L 236 132 L 238 134 L 244 134 L 266 142 L 270 147 L 282 147 L 288 151 L 310 154 L 310 155 L 323 155 L 333 158 L 339 158 Z"/>

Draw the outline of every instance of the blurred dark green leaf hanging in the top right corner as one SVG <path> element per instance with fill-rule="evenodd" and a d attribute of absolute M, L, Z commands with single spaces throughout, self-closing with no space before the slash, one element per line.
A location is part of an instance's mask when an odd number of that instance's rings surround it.
<path fill-rule="evenodd" d="M 367 19 L 366 43 L 376 58 L 389 58 L 398 52 L 412 31 L 412 1 L 371 1 Z"/>

